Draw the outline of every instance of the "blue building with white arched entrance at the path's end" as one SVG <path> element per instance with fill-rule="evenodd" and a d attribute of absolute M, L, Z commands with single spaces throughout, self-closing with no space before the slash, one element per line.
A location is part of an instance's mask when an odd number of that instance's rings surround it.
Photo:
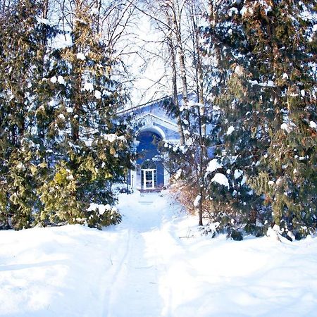
<path fill-rule="evenodd" d="M 158 143 L 178 143 L 180 135 L 174 118 L 163 108 L 165 99 L 153 101 L 125 111 L 132 115 L 135 127 L 133 151 L 137 154 L 135 170 L 130 170 L 128 183 L 133 189 L 157 190 L 168 185 L 170 175 L 163 166 Z"/>

